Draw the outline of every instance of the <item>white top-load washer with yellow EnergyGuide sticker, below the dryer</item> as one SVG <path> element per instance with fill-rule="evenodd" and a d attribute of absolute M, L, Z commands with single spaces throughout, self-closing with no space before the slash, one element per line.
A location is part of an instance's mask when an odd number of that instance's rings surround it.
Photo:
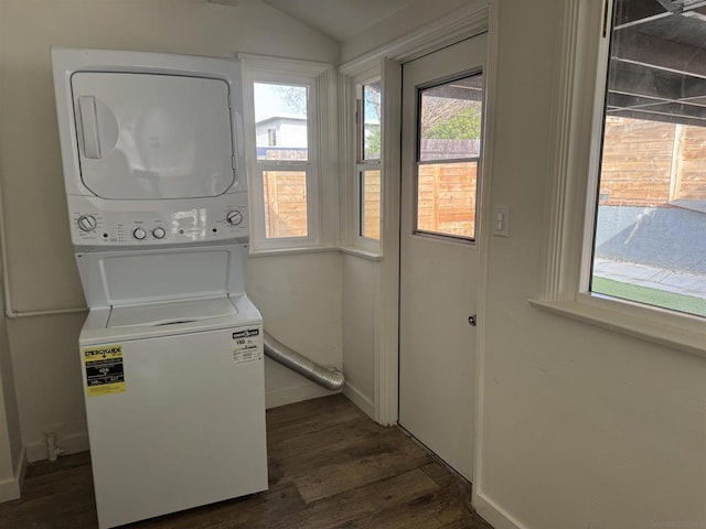
<path fill-rule="evenodd" d="M 100 527 L 267 488 L 263 325 L 245 295 L 92 310 L 79 346 Z"/>

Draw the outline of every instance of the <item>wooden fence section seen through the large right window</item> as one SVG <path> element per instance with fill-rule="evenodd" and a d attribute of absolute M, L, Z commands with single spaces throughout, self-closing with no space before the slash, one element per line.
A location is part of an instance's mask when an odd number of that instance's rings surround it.
<path fill-rule="evenodd" d="M 706 127 L 608 117 L 600 204 L 706 201 Z"/>

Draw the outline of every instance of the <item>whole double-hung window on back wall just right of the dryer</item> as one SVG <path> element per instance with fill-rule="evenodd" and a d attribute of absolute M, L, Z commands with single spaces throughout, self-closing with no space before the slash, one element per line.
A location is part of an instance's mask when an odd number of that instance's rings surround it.
<path fill-rule="evenodd" d="M 335 144 L 328 130 L 330 68 L 300 61 L 242 55 L 249 131 L 254 250 L 322 244 L 321 153 Z M 324 102 L 322 102 L 322 99 Z"/>

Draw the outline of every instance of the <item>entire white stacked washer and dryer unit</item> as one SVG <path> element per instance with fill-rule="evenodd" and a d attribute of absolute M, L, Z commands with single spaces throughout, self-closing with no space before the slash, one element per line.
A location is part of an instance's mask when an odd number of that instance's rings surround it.
<path fill-rule="evenodd" d="M 53 48 L 101 529 L 267 488 L 232 60 Z"/>

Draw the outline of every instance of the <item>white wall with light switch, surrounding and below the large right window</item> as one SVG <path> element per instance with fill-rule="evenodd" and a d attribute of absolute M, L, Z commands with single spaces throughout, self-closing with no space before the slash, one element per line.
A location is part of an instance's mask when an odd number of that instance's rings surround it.
<path fill-rule="evenodd" d="M 706 358 L 527 303 L 542 278 L 560 1 L 498 2 L 492 202 L 510 205 L 510 237 L 488 255 L 474 489 L 530 529 L 706 527 Z"/>

